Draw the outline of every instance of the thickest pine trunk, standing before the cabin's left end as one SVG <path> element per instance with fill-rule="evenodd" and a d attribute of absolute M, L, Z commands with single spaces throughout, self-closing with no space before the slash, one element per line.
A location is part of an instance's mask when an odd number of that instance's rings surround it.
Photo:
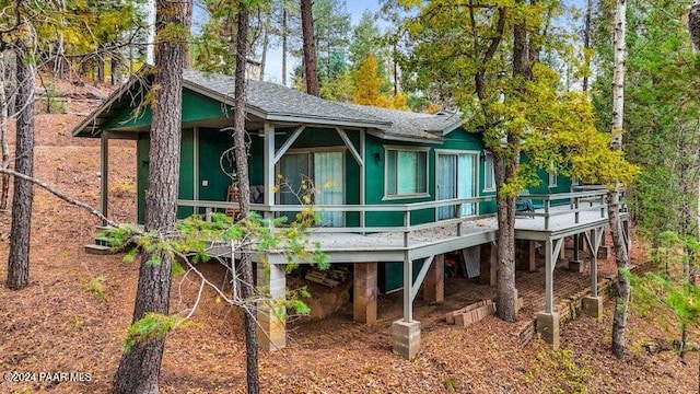
<path fill-rule="evenodd" d="M 145 231 L 161 236 L 174 232 L 177 220 L 179 147 L 182 138 L 182 83 L 186 38 L 177 36 L 184 20 L 182 0 L 158 0 L 156 31 L 168 37 L 158 43 L 151 144 L 149 150 L 149 185 L 145 192 Z M 156 252 L 160 253 L 160 252 Z M 171 294 L 171 257 L 160 253 L 160 262 L 150 264 L 144 253 L 139 269 L 132 321 L 147 313 L 167 314 Z M 116 393 L 159 392 L 159 374 L 165 339 L 138 343 L 121 357 L 115 375 Z"/>

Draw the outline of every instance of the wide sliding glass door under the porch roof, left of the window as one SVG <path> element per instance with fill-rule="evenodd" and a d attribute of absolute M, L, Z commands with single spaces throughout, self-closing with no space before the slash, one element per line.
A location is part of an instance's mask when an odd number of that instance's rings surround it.
<path fill-rule="evenodd" d="M 308 200 L 317 205 L 345 202 L 345 155 L 341 151 L 287 153 L 279 164 L 280 204 L 302 205 Z M 306 196 L 306 197 L 304 197 Z M 342 212 L 320 209 L 320 225 L 343 225 Z M 293 220 L 294 212 L 287 212 Z"/>

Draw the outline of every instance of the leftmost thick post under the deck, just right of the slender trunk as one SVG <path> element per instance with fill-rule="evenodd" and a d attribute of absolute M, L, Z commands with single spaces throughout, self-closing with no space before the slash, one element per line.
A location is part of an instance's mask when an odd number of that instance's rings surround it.
<path fill-rule="evenodd" d="M 287 278 L 284 265 L 269 265 L 269 270 L 262 264 L 257 265 L 258 286 L 269 293 L 271 303 L 283 301 L 287 293 Z M 270 308 L 267 302 L 258 304 L 258 344 L 267 351 L 275 351 L 287 346 L 287 325 L 283 318 L 283 308 Z"/>

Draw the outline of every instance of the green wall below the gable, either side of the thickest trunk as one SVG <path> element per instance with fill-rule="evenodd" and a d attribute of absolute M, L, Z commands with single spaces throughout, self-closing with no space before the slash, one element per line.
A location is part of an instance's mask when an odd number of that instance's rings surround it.
<path fill-rule="evenodd" d="M 182 199 L 195 198 L 195 167 L 192 165 L 195 153 L 194 142 L 195 138 L 192 130 L 183 130 L 178 188 L 178 196 Z M 145 189 L 148 188 L 149 183 L 149 146 L 150 135 L 148 132 L 139 134 L 137 141 L 137 221 L 139 223 L 143 223 L 145 221 Z M 178 218 L 186 218 L 190 215 L 192 215 L 191 208 L 177 208 Z"/>

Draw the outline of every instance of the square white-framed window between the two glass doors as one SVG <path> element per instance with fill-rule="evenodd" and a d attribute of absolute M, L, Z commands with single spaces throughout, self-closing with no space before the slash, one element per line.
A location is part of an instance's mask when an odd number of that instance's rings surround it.
<path fill-rule="evenodd" d="M 428 194 L 428 149 L 385 148 L 386 197 Z"/>

